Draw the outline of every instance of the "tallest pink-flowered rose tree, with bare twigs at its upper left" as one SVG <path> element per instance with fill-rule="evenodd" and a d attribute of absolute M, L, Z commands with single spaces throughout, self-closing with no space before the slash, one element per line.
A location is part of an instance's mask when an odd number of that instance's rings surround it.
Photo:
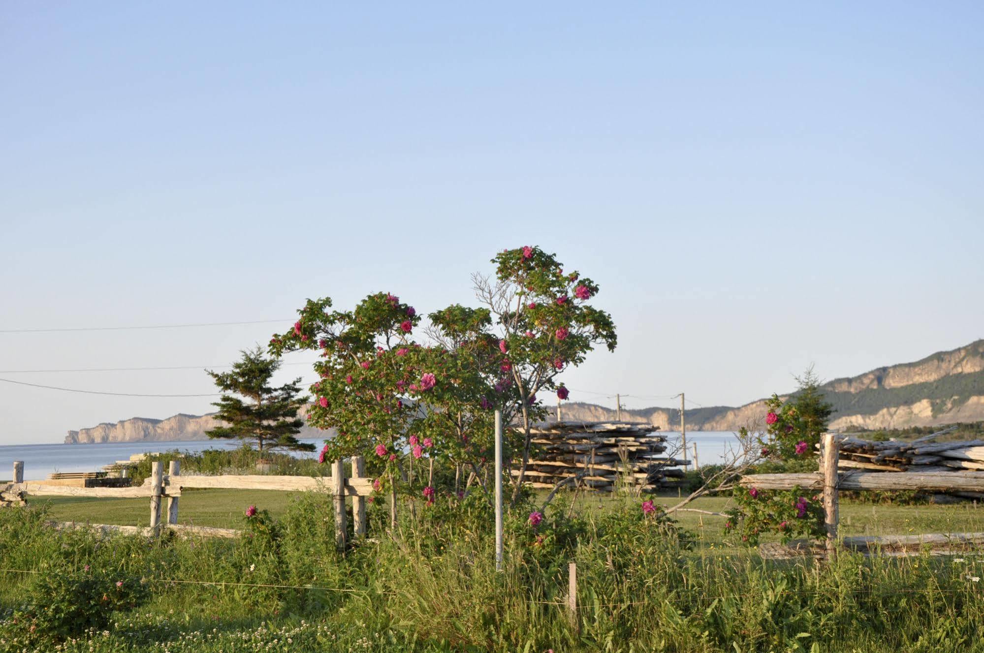
<path fill-rule="evenodd" d="M 529 462 L 530 429 L 546 413 L 536 393 L 556 389 L 558 397 L 568 398 L 567 387 L 555 382 L 557 375 L 584 362 L 597 344 L 614 350 L 617 338 L 611 316 L 588 304 L 597 284 L 577 271 L 565 273 L 555 255 L 526 246 L 504 250 L 492 263 L 494 278 L 473 280 L 499 341 L 494 394 L 487 402 L 502 406 L 504 422 L 515 424 L 522 435 L 515 504 Z"/>

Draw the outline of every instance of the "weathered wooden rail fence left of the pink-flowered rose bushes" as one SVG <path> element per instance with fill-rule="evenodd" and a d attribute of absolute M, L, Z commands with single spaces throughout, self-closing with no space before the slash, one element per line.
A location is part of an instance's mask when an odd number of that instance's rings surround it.
<path fill-rule="evenodd" d="M 168 472 L 163 473 L 163 463 L 151 465 L 151 477 L 144 485 L 130 488 L 79 488 L 45 484 L 43 481 L 25 481 L 24 463 L 14 462 L 14 480 L 0 486 L 0 501 L 4 504 L 23 503 L 25 495 L 32 497 L 89 497 L 103 499 L 150 498 L 151 526 L 114 526 L 90 524 L 88 527 L 103 531 L 159 534 L 168 528 L 183 534 L 199 534 L 215 537 L 234 537 L 238 531 L 228 528 L 209 528 L 178 524 L 178 507 L 183 489 L 233 489 L 233 490 L 279 490 L 286 492 L 305 492 L 327 489 L 334 497 L 335 539 L 339 549 L 345 547 L 348 532 L 348 515 L 345 500 L 352 498 L 352 526 L 356 537 L 366 534 L 366 498 L 373 492 L 373 479 L 365 475 L 365 460 L 362 456 L 351 459 L 351 475 L 345 475 L 342 460 L 332 463 L 332 476 L 315 478 L 309 476 L 261 476 L 261 475 L 222 475 L 222 476 L 182 476 L 181 463 L 171 460 Z M 165 501 L 166 500 L 166 503 Z M 165 509 L 166 505 L 166 509 Z M 73 522 L 56 524 L 60 528 L 74 528 L 80 525 Z"/>

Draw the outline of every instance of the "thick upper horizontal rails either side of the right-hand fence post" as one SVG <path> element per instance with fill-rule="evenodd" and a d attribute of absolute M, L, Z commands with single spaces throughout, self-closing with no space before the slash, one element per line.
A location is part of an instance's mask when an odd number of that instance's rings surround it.
<path fill-rule="evenodd" d="M 841 490 L 941 490 L 984 491 L 981 472 L 841 472 Z M 760 490 L 823 490 L 824 479 L 819 472 L 797 474 L 751 474 L 743 476 L 741 485 Z"/>

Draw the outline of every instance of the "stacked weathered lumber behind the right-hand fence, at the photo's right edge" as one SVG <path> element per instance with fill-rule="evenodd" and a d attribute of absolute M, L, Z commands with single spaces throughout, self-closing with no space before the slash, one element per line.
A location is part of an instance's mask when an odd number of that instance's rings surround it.
<path fill-rule="evenodd" d="M 877 443 L 849 437 L 840 442 L 838 467 L 885 472 L 984 470 L 984 441 Z"/>

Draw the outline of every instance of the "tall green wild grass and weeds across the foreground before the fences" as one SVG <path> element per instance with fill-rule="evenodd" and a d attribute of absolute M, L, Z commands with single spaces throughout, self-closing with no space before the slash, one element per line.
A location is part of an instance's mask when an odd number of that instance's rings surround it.
<path fill-rule="evenodd" d="M 496 572 L 487 505 L 443 497 L 408 508 L 390 530 L 387 507 L 374 502 L 371 537 L 343 555 L 330 498 L 318 493 L 277 520 L 269 547 L 249 537 L 100 540 L 53 531 L 43 509 L 7 509 L 0 566 L 58 573 L 91 564 L 150 579 L 143 616 L 66 650 L 981 650 L 979 557 L 721 557 L 637 505 L 570 517 L 555 505 L 535 529 L 527 512 L 509 516 Z M 578 564 L 576 625 L 564 605 L 569 562 Z M 31 574 L 3 578 L 0 606 L 13 607 Z M 265 586 L 206 584 L 220 582 Z M 311 648 L 278 649 L 288 631 Z"/>

